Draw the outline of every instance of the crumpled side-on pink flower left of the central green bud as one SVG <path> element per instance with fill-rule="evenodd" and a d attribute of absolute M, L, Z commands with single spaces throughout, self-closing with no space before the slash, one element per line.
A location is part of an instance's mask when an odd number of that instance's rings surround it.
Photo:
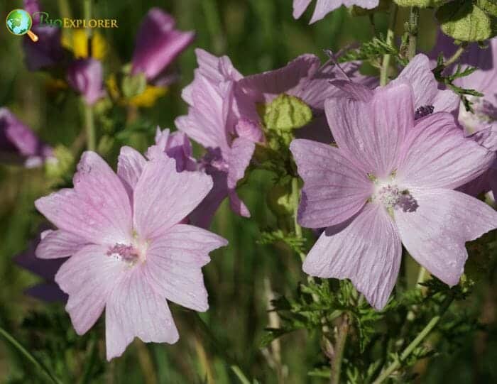
<path fill-rule="evenodd" d="M 262 138 L 262 132 L 253 120 L 258 119 L 255 109 L 245 111 L 246 99 L 237 84 L 241 75 L 229 58 L 198 49 L 195 53 L 199 68 L 193 82 L 182 92 L 189 104 L 188 114 L 178 117 L 175 124 L 207 149 L 200 170 L 212 175 L 214 187 L 190 215 L 193 223 L 206 227 L 226 196 L 234 212 L 250 216 L 235 189 L 250 163 L 254 140 Z"/>

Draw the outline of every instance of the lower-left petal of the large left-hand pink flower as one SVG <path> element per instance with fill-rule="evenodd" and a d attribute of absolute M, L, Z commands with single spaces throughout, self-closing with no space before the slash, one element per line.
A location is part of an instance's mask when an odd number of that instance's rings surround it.
<path fill-rule="evenodd" d="M 107 256 L 103 246 L 85 246 L 60 267 L 55 282 L 69 295 L 66 311 L 77 334 L 84 334 L 102 314 L 111 290 L 127 265 Z"/>

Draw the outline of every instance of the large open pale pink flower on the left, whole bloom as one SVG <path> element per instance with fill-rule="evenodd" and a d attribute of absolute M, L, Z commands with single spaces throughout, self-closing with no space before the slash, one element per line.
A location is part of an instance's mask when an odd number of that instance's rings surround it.
<path fill-rule="evenodd" d="M 36 249 L 38 258 L 71 256 L 55 281 L 69 295 L 66 310 L 77 334 L 105 309 L 107 359 L 120 356 L 138 336 L 178 341 L 167 300 L 208 308 L 202 266 L 226 240 L 178 224 L 212 188 L 197 172 L 177 172 L 175 160 L 147 161 L 121 148 L 117 175 L 94 152 L 85 152 L 74 187 L 36 200 L 58 227 Z"/>

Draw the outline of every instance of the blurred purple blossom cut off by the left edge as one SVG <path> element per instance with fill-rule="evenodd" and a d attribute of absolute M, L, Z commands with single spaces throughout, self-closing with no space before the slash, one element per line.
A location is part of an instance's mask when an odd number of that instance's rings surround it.
<path fill-rule="evenodd" d="M 23 163 L 27 168 L 55 161 L 52 148 L 6 108 L 0 108 L 0 159 L 6 163 Z"/>

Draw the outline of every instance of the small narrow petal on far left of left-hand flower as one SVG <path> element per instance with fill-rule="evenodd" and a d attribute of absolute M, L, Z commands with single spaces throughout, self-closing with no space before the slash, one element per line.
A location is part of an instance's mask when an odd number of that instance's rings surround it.
<path fill-rule="evenodd" d="M 66 231 L 44 231 L 36 247 L 37 258 L 67 258 L 88 245 L 84 238 Z"/>

